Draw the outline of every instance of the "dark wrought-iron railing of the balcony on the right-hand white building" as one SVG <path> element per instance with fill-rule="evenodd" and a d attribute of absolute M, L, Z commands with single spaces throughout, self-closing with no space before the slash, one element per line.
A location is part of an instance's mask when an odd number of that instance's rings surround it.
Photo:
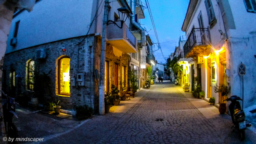
<path fill-rule="evenodd" d="M 195 46 L 204 46 L 210 44 L 210 35 L 208 28 L 193 28 L 184 45 L 184 56 Z"/>

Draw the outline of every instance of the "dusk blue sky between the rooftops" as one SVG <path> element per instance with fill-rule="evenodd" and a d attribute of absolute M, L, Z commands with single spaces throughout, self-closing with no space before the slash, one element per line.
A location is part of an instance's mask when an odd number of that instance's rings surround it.
<path fill-rule="evenodd" d="M 141 0 L 146 5 L 145 0 Z M 154 24 L 158 34 L 158 39 L 163 51 L 164 57 L 169 57 L 174 52 L 175 46 L 178 46 L 180 35 L 185 35 L 181 27 L 186 16 L 189 0 L 147 0 L 152 12 Z M 148 9 L 144 9 L 145 19 L 141 19 L 142 26 L 149 31 L 153 42 L 157 42 Z M 150 30 L 151 29 L 151 30 Z M 156 50 L 158 47 L 155 45 Z M 161 51 L 154 52 L 158 63 L 165 63 Z"/>

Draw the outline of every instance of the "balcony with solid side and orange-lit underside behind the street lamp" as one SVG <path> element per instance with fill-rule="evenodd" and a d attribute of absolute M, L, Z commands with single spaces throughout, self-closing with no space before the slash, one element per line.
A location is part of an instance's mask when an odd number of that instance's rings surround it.
<path fill-rule="evenodd" d="M 114 24 L 108 25 L 107 39 L 107 43 L 124 53 L 136 53 L 138 51 L 137 39 L 125 23 L 122 29 L 118 28 Z"/>

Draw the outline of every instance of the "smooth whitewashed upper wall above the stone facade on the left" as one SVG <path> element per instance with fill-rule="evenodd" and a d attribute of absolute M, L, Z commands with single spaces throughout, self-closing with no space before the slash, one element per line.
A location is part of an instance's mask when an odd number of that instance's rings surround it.
<path fill-rule="evenodd" d="M 86 35 L 91 23 L 93 0 L 42 0 L 33 11 L 13 18 L 6 53 L 31 46 Z M 93 15 L 94 16 L 94 15 Z M 17 46 L 10 46 L 20 20 Z"/>

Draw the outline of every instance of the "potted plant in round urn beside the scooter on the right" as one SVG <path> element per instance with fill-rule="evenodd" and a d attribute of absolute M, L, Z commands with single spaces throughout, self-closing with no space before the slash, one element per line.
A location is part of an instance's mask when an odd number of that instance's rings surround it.
<path fill-rule="evenodd" d="M 218 85 L 216 85 L 216 87 L 214 87 L 214 92 L 215 93 L 221 93 L 221 102 L 223 102 L 223 97 L 228 95 L 229 89 L 223 83 L 219 87 L 218 87 Z M 224 114 L 225 112 L 226 112 L 226 103 L 220 103 L 219 104 L 219 113 Z"/>

